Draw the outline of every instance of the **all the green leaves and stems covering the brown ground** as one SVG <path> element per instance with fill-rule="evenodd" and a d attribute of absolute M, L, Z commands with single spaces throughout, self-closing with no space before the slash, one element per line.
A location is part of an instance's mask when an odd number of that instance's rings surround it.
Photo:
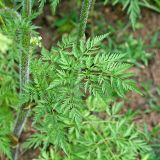
<path fill-rule="evenodd" d="M 99 35 L 105 22 L 94 28 L 96 1 L 76 1 L 73 15 L 54 19 L 50 27 L 62 37 L 48 49 L 35 21 L 45 7 L 54 17 L 62 3 L 0 0 L 0 159 L 19 160 L 32 149 L 39 151 L 33 160 L 158 160 L 159 125 L 135 123 L 142 111 L 128 109 L 125 100 L 131 91 L 147 99 L 144 113 L 160 111 L 160 88 L 155 96 L 152 83 L 137 87 L 131 72 L 149 64 L 158 34 L 147 46 L 127 30 L 130 23 L 134 31 L 143 28 L 141 7 L 158 12 L 159 2 L 100 1 L 122 5 L 130 22 L 107 24 Z M 28 128 L 33 133 L 24 140 Z"/>

